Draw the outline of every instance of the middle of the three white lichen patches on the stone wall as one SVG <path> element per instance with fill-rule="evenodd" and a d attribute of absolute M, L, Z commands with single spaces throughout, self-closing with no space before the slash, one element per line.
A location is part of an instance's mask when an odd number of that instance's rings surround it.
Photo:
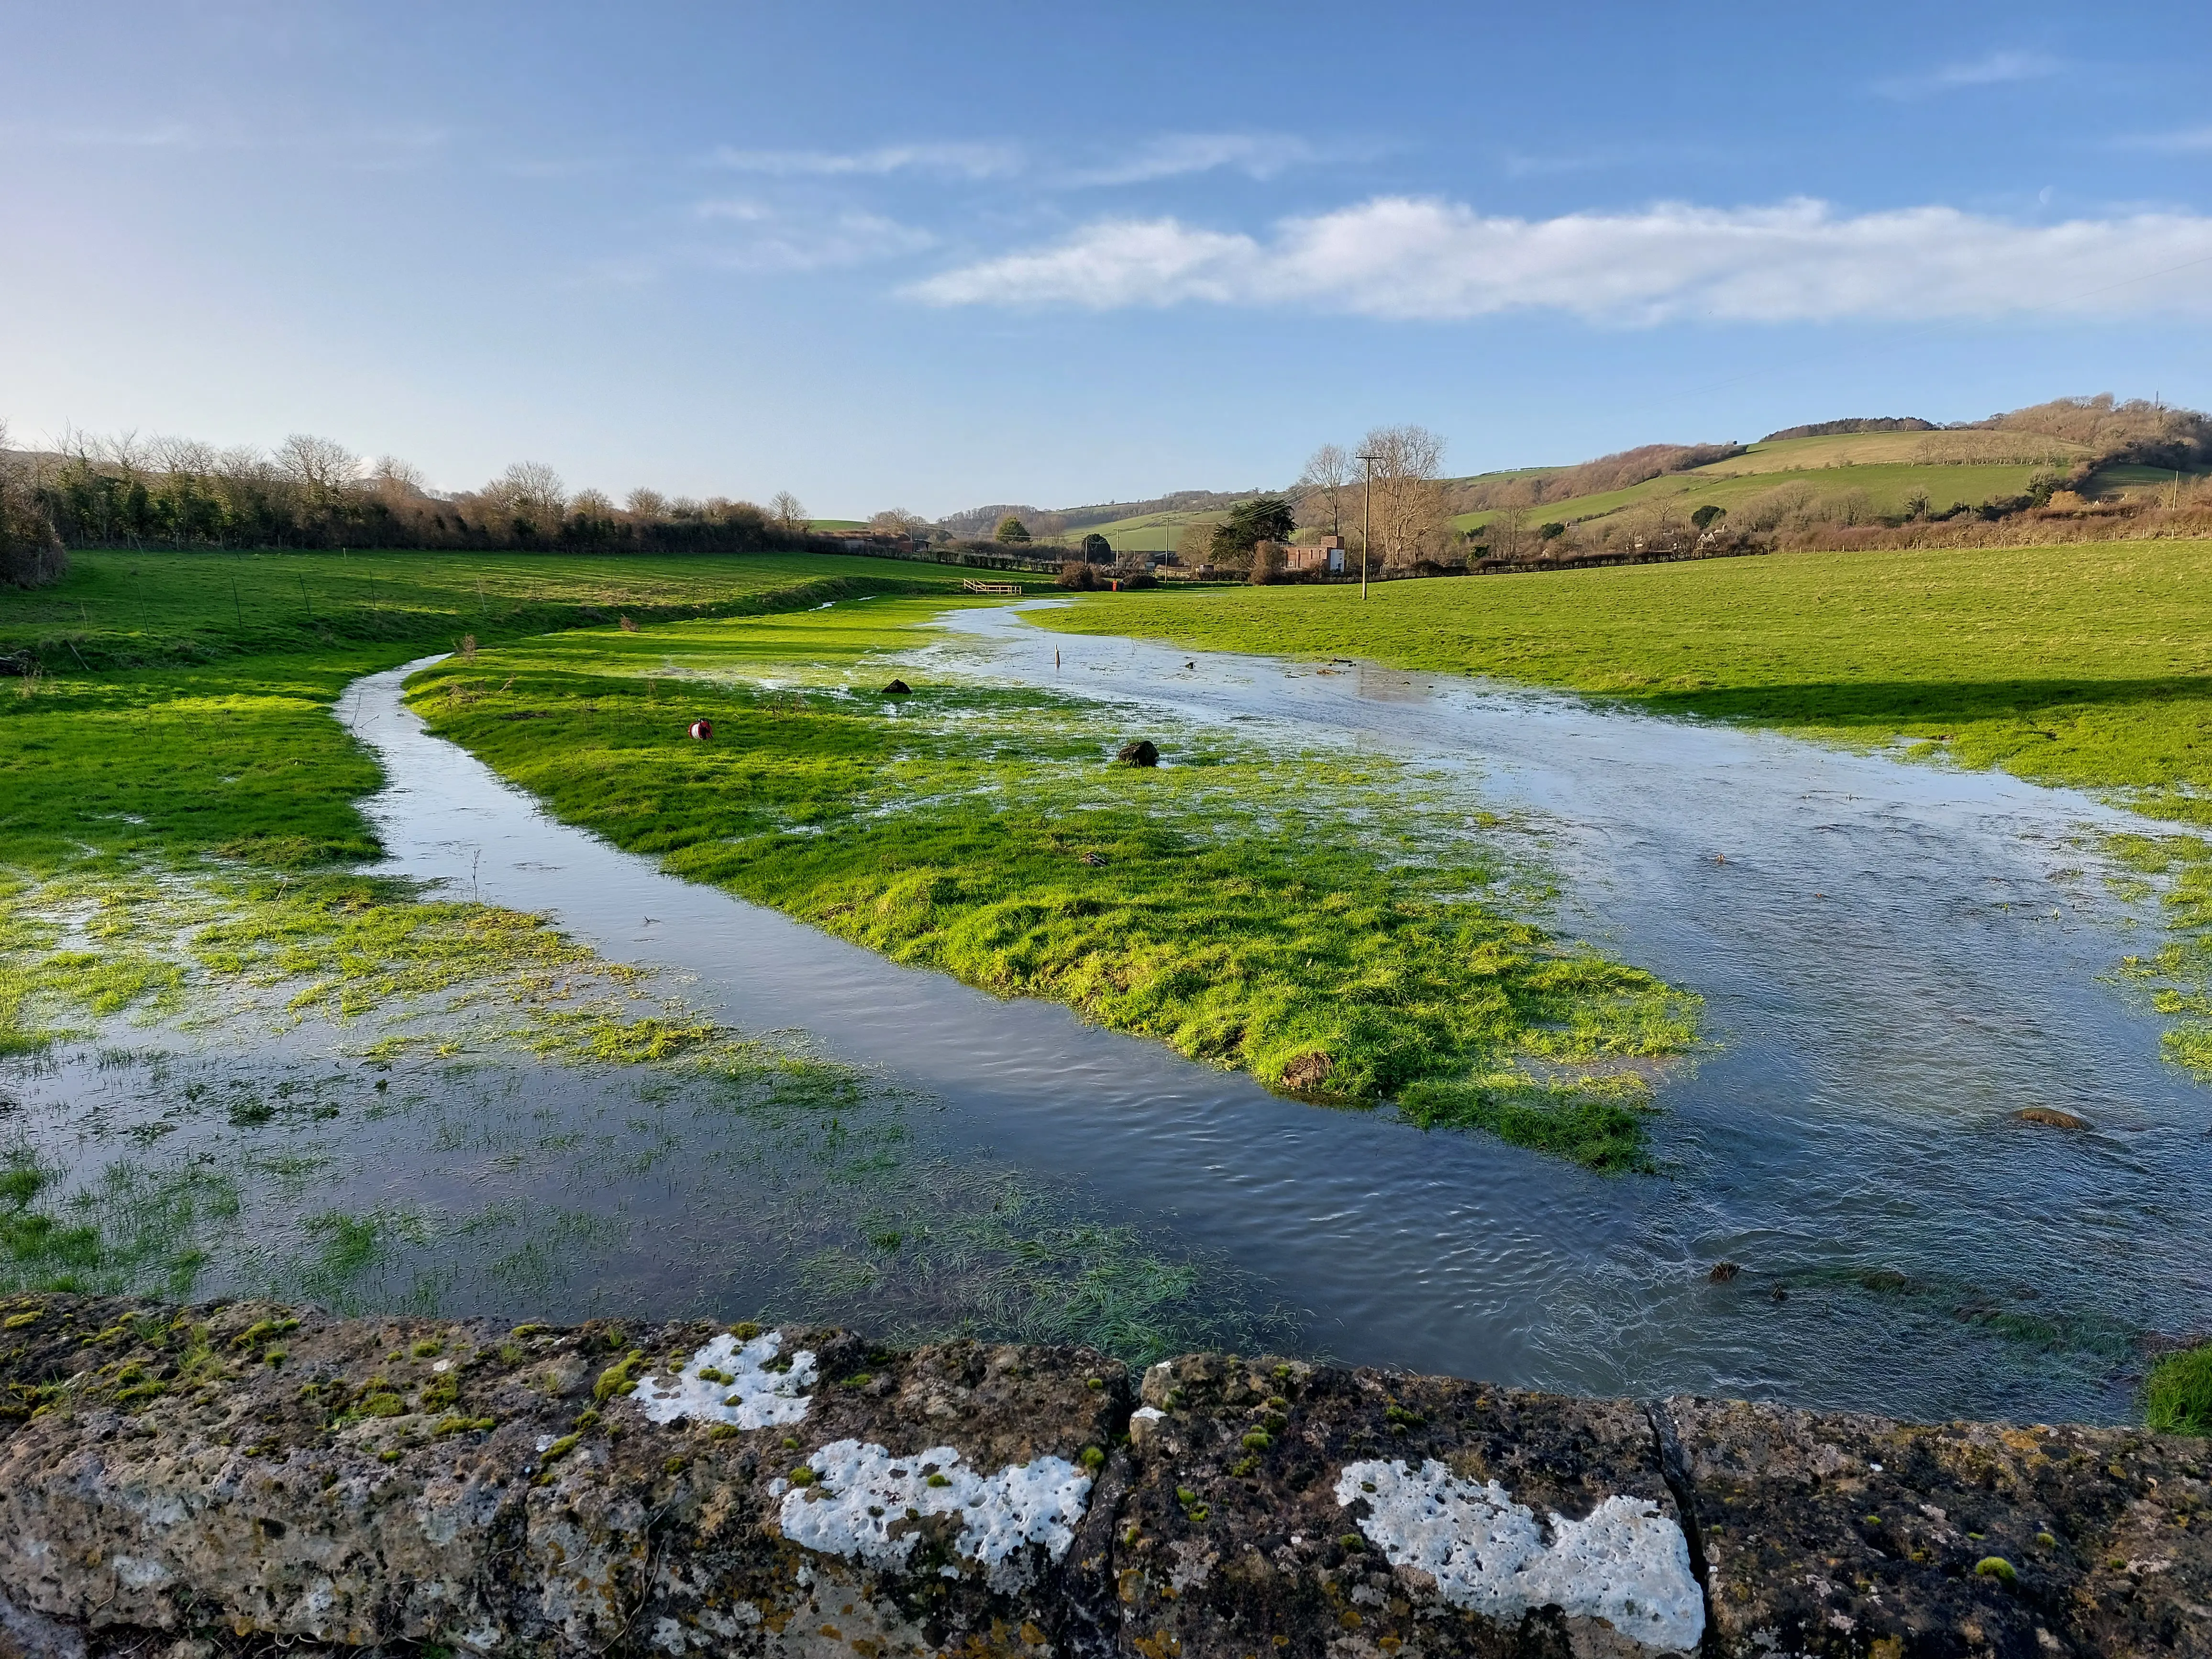
<path fill-rule="evenodd" d="M 958 1515 L 953 1548 L 982 1566 L 993 1590 L 1022 1588 L 1031 1544 L 1062 1559 L 1091 1500 L 1091 1475 L 1066 1458 L 1037 1458 L 980 1475 L 951 1447 L 894 1455 L 834 1440 L 807 1458 L 814 1482 L 783 1493 L 783 1535 L 825 1555 L 902 1568 L 920 1540 L 916 1522 Z M 942 1568 L 953 1573 L 953 1568 Z"/>

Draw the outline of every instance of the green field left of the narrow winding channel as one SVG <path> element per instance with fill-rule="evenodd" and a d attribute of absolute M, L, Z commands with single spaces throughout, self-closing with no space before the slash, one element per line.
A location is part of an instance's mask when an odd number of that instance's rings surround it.
<path fill-rule="evenodd" d="M 299 872 L 376 854 L 358 803 L 378 772 L 330 717 L 356 675 L 586 613 L 721 615 L 956 584 L 931 566 L 801 555 L 88 553 L 55 588 L 0 593 L 0 655 L 51 670 L 0 679 L 0 1051 L 42 1046 L 71 1009 L 115 1013 L 177 980 L 128 951 L 108 982 L 86 973 L 58 907 L 128 911 L 170 878 L 217 878 L 250 905 L 257 880 L 281 876 L 299 898 Z M 131 973 L 115 967 L 126 958 Z"/>

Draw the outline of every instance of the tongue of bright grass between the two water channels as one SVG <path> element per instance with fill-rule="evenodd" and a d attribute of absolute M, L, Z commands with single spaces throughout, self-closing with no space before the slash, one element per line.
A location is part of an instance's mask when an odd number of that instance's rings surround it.
<path fill-rule="evenodd" d="M 1108 710 L 902 666 L 942 608 L 573 633 L 442 664 L 411 703 L 571 823 L 898 962 L 1301 1095 L 1648 1164 L 1648 1086 L 1568 1073 L 1683 1053 L 1694 998 L 1509 916 L 1464 807 L 1422 810 L 1440 792 L 1389 761 L 1197 732 L 1110 765 L 1135 732 Z M 894 672 L 920 692 L 878 695 Z"/>

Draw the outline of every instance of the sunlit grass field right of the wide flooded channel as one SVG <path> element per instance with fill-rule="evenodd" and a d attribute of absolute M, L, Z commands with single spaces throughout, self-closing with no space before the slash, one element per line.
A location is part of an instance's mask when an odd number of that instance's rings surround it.
<path fill-rule="evenodd" d="M 1495 675 L 2104 790 L 2212 825 L 2212 544 L 1776 553 L 1356 588 L 1121 593 L 1042 615 L 1210 650 Z M 2163 883 L 2126 964 L 2212 1077 L 2212 847 L 2115 841 Z"/>

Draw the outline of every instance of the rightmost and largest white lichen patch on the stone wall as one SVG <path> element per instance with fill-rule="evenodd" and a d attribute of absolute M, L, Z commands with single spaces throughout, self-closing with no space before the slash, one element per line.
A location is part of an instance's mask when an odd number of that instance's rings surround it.
<path fill-rule="evenodd" d="M 1668 1652 L 1688 1652 L 1705 1635 L 1690 1544 L 1648 1498 L 1608 1498 L 1588 1520 L 1553 1513 L 1544 1526 L 1495 1480 L 1478 1486 L 1433 1458 L 1418 1471 L 1405 1462 L 1345 1464 L 1336 1502 L 1363 1498 L 1367 1540 L 1391 1566 L 1431 1575 L 1455 1606 L 1493 1619 L 1557 1606 Z"/>

